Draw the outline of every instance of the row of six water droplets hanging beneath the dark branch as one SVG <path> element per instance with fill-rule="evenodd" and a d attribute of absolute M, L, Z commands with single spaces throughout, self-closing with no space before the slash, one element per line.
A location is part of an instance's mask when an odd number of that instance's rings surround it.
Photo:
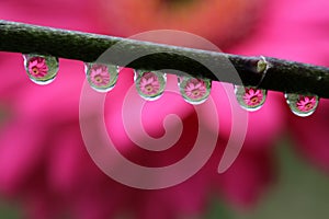
<path fill-rule="evenodd" d="M 48 84 L 57 76 L 58 58 L 41 55 L 23 55 L 29 78 L 37 84 Z M 120 68 L 103 64 L 84 64 L 87 80 L 98 92 L 111 91 L 117 81 Z M 147 100 L 158 100 L 166 90 L 166 73 L 135 70 L 134 82 L 138 94 Z M 178 77 L 181 95 L 190 104 L 202 104 L 211 94 L 212 81 L 189 76 Z M 258 111 L 266 100 L 266 90 L 235 85 L 235 94 L 240 106 L 249 112 Z M 292 112 L 297 116 L 311 115 L 319 103 L 316 95 L 285 94 Z"/>

